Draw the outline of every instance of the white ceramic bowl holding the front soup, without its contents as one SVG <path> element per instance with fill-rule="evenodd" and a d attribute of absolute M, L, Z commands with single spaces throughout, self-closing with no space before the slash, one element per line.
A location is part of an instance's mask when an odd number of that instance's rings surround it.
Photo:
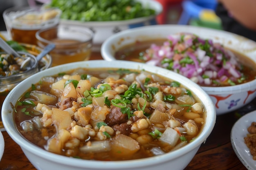
<path fill-rule="evenodd" d="M 79 67 L 120 68 L 120 66 L 124 69 L 144 69 L 151 73 L 171 77 L 171 79 L 178 81 L 186 88 L 189 88 L 199 99 L 202 99 L 202 104 L 206 109 L 207 115 L 200 135 L 190 144 L 164 155 L 132 161 L 90 161 L 56 155 L 52 152 L 43 150 L 42 148 L 39 148 L 27 141 L 16 129 L 13 121 L 13 108 L 9 102 L 15 104 L 31 84 L 39 82 L 41 77 L 56 75 L 57 73 L 63 73 Z M 169 169 L 170 167 L 174 170 L 183 170 L 192 160 L 200 148 L 200 145 L 204 143 L 213 130 L 216 121 L 216 111 L 210 97 L 202 90 L 202 88 L 200 88 L 200 86 L 177 73 L 173 73 L 163 68 L 141 64 L 139 62 L 107 62 L 105 60 L 92 60 L 55 66 L 25 79 L 23 82 L 18 84 L 18 86 L 13 88 L 7 99 L 4 101 L 2 107 L 2 120 L 10 137 L 22 148 L 29 161 L 31 161 L 38 170 L 155 170 Z"/>

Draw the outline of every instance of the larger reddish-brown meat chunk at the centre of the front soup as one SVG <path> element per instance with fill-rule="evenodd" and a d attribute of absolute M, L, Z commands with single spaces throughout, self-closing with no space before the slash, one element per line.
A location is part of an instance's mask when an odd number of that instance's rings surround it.
<path fill-rule="evenodd" d="M 108 126 L 114 126 L 115 124 L 122 124 L 128 120 L 128 115 L 121 113 L 121 108 L 113 107 L 110 113 L 106 115 L 106 123 Z"/>

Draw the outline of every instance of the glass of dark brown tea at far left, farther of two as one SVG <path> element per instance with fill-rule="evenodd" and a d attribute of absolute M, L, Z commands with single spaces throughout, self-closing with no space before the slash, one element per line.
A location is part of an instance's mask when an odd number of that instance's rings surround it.
<path fill-rule="evenodd" d="M 3 12 L 4 23 L 12 40 L 36 45 L 36 31 L 59 24 L 58 8 L 12 7 Z"/>

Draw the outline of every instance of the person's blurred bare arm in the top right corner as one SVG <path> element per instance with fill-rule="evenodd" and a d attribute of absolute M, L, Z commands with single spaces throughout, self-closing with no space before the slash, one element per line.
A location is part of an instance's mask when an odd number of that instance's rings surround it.
<path fill-rule="evenodd" d="M 240 24 L 256 31 L 256 0 L 218 0 Z"/>

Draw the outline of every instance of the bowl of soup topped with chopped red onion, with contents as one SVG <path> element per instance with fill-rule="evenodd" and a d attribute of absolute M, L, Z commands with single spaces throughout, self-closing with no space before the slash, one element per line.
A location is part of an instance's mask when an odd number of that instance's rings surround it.
<path fill-rule="evenodd" d="M 122 31 L 102 45 L 105 60 L 130 60 L 180 73 L 199 84 L 217 115 L 256 97 L 256 43 L 225 31 L 157 25 Z"/>

